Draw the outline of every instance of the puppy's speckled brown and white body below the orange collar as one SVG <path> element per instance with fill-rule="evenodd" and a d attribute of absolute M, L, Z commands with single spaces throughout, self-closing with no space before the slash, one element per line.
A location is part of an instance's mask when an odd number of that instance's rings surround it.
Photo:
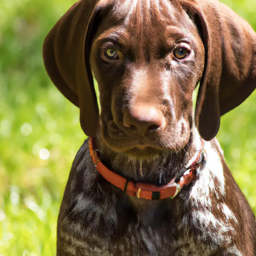
<path fill-rule="evenodd" d="M 235 181 L 235 190 L 225 189 L 225 180 L 233 178 L 215 139 L 206 142 L 205 154 L 196 181 L 174 200 L 134 208 L 129 196 L 97 172 L 85 140 L 61 204 L 57 255 L 253 255 L 241 252 L 255 230 L 243 230 L 243 223 L 253 223 L 253 214 Z M 231 210 L 235 204 L 239 214 Z"/>

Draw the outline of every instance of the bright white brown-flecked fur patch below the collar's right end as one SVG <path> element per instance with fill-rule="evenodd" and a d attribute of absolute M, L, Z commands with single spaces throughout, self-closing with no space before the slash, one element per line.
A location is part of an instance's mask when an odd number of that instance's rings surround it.
<path fill-rule="evenodd" d="M 211 249 L 216 250 L 221 244 L 231 245 L 237 219 L 223 202 L 225 179 L 221 162 L 222 153 L 219 148 L 216 148 L 215 141 L 205 142 L 204 151 L 205 167 L 197 170 L 197 180 L 186 202 L 190 210 L 184 215 L 179 229 L 201 230 L 197 238 L 211 241 Z"/>

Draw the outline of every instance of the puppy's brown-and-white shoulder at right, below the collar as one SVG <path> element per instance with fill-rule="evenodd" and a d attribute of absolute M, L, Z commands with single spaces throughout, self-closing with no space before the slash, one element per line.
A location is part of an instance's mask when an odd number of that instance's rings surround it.
<path fill-rule="evenodd" d="M 179 229 L 195 230 L 195 238 L 208 241 L 212 249 L 226 247 L 232 255 L 245 255 L 241 254 L 244 250 L 251 255 L 252 246 L 244 248 L 244 244 L 251 235 L 255 236 L 253 212 L 228 169 L 218 140 L 205 142 L 204 150 L 205 165 L 198 170 L 190 193 L 184 195 L 184 216 Z M 244 221 L 254 223 L 250 230 Z"/>

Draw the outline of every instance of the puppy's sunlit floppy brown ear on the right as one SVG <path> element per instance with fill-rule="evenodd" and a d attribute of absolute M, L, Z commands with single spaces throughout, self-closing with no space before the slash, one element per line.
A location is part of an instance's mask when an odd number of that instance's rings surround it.
<path fill-rule="evenodd" d="M 182 0 L 205 48 L 204 74 L 196 100 L 196 126 L 213 139 L 220 116 L 240 105 L 256 88 L 256 33 L 217 0 Z"/>

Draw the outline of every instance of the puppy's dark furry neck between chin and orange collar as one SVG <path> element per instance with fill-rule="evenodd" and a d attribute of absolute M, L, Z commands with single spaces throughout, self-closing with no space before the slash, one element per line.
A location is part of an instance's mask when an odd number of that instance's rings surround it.
<path fill-rule="evenodd" d="M 164 185 L 172 178 L 180 177 L 189 166 L 196 150 L 201 146 L 200 136 L 193 127 L 188 144 L 179 152 L 161 152 L 147 160 L 131 158 L 125 153 L 116 153 L 106 146 L 101 136 L 97 137 L 100 159 L 110 170 L 134 181 Z M 190 163 L 191 164 L 191 163 Z"/>

